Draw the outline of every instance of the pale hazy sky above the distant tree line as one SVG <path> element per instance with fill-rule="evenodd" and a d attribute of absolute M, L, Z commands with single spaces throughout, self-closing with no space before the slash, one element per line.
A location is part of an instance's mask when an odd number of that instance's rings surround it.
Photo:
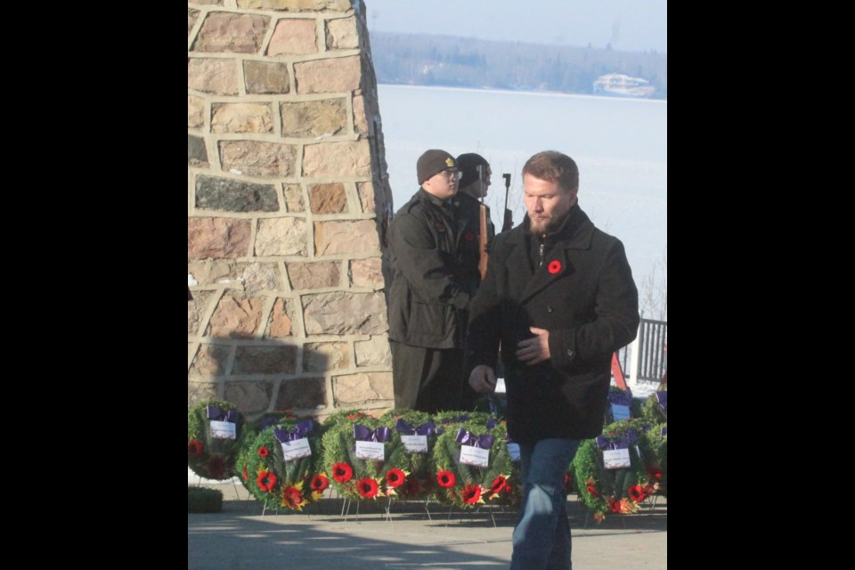
<path fill-rule="evenodd" d="M 364 0 L 371 31 L 668 52 L 667 0 Z M 522 8 L 525 8 L 523 10 Z"/>

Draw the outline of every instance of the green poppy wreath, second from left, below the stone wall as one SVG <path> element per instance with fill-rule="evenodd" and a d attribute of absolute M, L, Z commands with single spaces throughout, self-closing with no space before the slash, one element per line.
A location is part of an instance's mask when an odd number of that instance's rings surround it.
<path fill-rule="evenodd" d="M 305 435 L 310 455 L 285 460 L 282 444 L 276 430 L 294 432 L 301 422 L 311 421 Z M 273 503 L 276 507 L 300 510 L 322 498 L 329 479 L 322 473 L 322 429 L 314 419 L 282 418 L 276 424 L 262 429 L 252 444 L 248 445 L 247 487 L 258 501 Z"/>

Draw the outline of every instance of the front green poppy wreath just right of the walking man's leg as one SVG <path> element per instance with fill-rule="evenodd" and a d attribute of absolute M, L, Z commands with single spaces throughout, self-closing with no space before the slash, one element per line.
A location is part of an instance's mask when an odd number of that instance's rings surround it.
<path fill-rule="evenodd" d="M 638 503 L 655 492 L 640 452 L 646 426 L 642 419 L 622 419 L 603 429 L 602 435 L 609 439 L 629 434 L 636 436 L 636 441 L 629 445 L 628 468 L 607 469 L 596 438 L 584 440 L 576 452 L 572 465 L 576 492 L 598 523 L 607 513 L 636 512 Z"/>

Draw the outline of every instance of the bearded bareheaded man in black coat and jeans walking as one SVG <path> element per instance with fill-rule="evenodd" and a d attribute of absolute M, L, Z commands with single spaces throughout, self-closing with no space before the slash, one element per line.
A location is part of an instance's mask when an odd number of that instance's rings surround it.
<path fill-rule="evenodd" d="M 496 236 L 471 306 L 469 386 L 495 389 L 501 345 L 508 434 L 520 447 L 525 486 L 511 570 L 572 567 L 564 475 L 580 440 L 601 433 L 612 354 L 639 326 L 623 243 L 594 227 L 578 191 L 570 157 L 528 159 L 525 220 Z"/>

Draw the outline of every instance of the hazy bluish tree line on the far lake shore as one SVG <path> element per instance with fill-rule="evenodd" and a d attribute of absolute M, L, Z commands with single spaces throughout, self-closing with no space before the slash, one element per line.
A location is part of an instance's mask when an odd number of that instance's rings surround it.
<path fill-rule="evenodd" d="M 623 73 L 668 98 L 668 57 L 655 51 L 372 32 L 371 57 L 379 83 L 592 94 L 597 77 Z"/>

